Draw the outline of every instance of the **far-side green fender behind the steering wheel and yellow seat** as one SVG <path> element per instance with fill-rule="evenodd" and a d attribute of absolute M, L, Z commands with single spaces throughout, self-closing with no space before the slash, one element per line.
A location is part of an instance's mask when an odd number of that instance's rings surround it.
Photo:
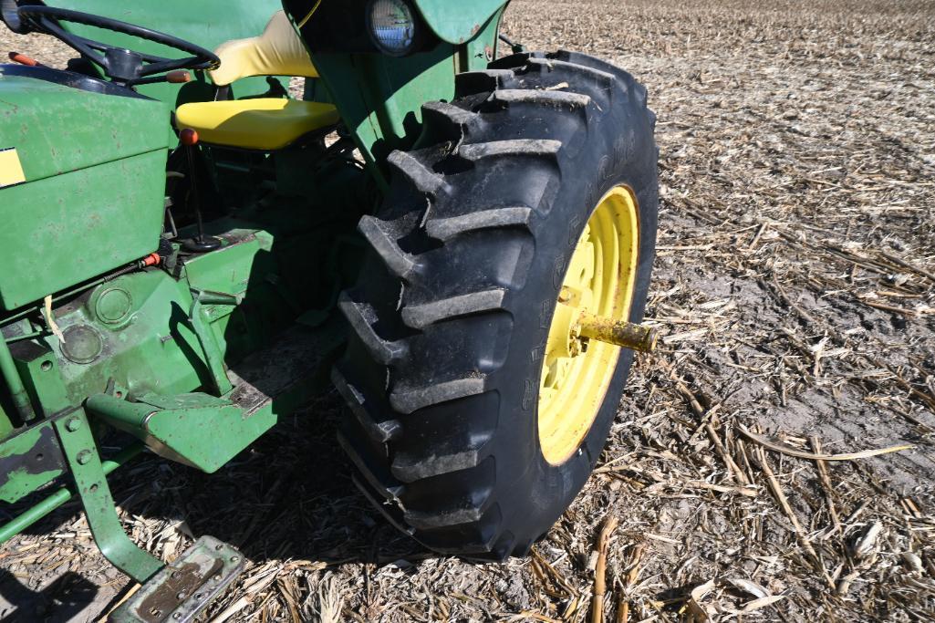
<path fill-rule="evenodd" d="M 57 0 L 51 4 L 145 26 L 211 51 L 230 39 L 259 35 L 273 13 L 282 8 L 280 0 Z M 93 26 L 65 24 L 65 27 L 77 35 L 96 38 L 130 50 L 168 58 L 180 58 L 183 55 L 183 52 L 166 49 L 151 41 L 103 31 Z M 164 82 L 140 86 L 138 91 L 161 99 L 175 108 L 184 102 L 209 99 L 210 90 L 203 88 L 203 85 L 204 82 L 184 85 Z M 231 91 L 237 96 L 245 96 L 266 93 L 267 88 L 266 80 L 248 78 L 237 80 Z"/>

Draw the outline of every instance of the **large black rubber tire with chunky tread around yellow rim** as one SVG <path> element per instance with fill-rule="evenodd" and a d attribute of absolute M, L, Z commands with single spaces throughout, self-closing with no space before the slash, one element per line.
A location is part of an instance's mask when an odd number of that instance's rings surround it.
<path fill-rule="evenodd" d="M 469 558 L 525 556 L 606 442 L 633 354 L 579 451 L 539 450 L 543 346 L 583 227 L 618 184 L 636 194 L 640 322 L 658 210 L 654 114 L 626 72 L 582 54 L 514 54 L 423 107 L 417 149 L 360 232 L 372 256 L 340 301 L 351 330 L 333 380 L 357 484 L 396 526 Z"/>

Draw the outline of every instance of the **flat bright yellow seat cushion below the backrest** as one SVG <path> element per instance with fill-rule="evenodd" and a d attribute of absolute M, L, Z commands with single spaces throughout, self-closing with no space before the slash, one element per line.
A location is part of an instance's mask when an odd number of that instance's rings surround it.
<path fill-rule="evenodd" d="M 277 97 L 193 102 L 176 110 L 176 127 L 193 129 L 202 142 L 267 152 L 334 123 L 338 109 L 330 104 Z"/>

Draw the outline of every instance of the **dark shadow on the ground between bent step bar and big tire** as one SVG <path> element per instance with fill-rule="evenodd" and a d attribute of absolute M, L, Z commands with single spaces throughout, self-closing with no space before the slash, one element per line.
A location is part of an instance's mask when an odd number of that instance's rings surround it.
<path fill-rule="evenodd" d="M 260 564 L 424 558 L 424 547 L 353 485 L 352 463 L 335 435 L 342 408 L 334 390 L 313 398 L 214 474 L 164 463 L 162 472 L 174 472 L 165 485 L 178 492 L 176 516 L 195 537 L 232 543 Z"/>

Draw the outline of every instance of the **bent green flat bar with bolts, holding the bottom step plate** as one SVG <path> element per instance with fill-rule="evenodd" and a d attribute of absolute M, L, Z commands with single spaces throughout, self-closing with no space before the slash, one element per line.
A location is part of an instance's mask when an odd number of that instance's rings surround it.
<path fill-rule="evenodd" d="M 146 582 L 164 564 L 137 547 L 123 531 L 84 410 L 79 408 L 56 419 L 55 432 L 62 442 L 65 461 L 75 480 L 94 543 L 117 569 L 137 582 Z"/>

